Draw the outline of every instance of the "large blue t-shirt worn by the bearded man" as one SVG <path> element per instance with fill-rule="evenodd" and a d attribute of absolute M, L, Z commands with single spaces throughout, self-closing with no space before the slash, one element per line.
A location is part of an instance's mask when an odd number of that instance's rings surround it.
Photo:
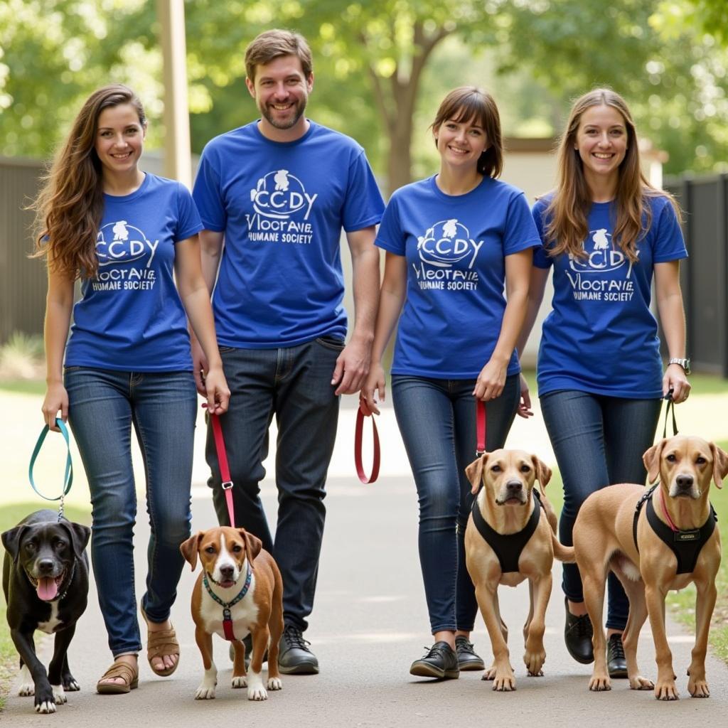
<path fill-rule="evenodd" d="M 378 223 L 384 202 L 362 147 L 309 123 L 283 143 L 252 122 L 202 152 L 193 196 L 205 228 L 225 233 L 213 294 L 225 346 L 346 336 L 341 228 Z"/>

